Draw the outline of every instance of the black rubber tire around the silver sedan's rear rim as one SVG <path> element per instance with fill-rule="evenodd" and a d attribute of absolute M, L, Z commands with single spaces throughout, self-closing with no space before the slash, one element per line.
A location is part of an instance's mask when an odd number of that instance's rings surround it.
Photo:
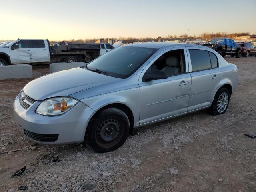
<path fill-rule="evenodd" d="M 223 112 L 219 112 L 218 109 L 217 109 L 217 104 L 218 104 L 218 99 L 220 98 L 220 96 L 223 94 L 223 93 L 226 93 L 227 96 L 228 96 L 228 102 L 227 102 L 227 106 L 225 108 L 225 110 Z M 220 114 L 224 114 L 226 112 L 226 110 L 228 109 L 228 104 L 229 104 L 229 101 L 230 101 L 230 92 L 228 91 L 227 88 L 220 88 L 217 93 L 215 94 L 215 97 L 214 97 L 214 100 L 212 102 L 212 105 L 210 106 L 209 108 L 209 111 L 210 111 L 210 114 L 212 115 L 220 115 Z"/>

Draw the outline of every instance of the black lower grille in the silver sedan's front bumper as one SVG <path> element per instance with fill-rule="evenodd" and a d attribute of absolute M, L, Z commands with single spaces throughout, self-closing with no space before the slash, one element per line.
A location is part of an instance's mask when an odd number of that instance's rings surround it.
<path fill-rule="evenodd" d="M 32 138 L 36 141 L 42 141 L 42 142 L 54 142 L 58 140 L 59 134 L 39 134 L 39 133 L 33 133 L 26 129 L 24 130 L 24 134 L 28 136 L 29 138 Z"/>

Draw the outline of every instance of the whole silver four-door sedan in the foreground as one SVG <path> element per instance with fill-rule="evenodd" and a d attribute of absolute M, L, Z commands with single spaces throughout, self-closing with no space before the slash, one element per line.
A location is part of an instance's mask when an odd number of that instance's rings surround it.
<path fill-rule="evenodd" d="M 32 80 L 14 100 L 14 118 L 34 142 L 108 152 L 134 128 L 206 108 L 225 113 L 237 85 L 237 67 L 208 47 L 129 44 Z"/>

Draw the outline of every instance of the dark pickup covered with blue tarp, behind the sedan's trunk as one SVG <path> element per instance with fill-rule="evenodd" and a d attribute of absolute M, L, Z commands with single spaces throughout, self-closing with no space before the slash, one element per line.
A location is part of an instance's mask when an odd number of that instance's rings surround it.
<path fill-rule="evenodd" d="M 239 44 L 236 44 L 234 40 L 230 38 L 215 38 L 211 41 L 210 44 L 202 44 L 208 46 L 218 52 L 222 57 L 230 55 L 232 57 L 241 57 L 241 47 Z"/>

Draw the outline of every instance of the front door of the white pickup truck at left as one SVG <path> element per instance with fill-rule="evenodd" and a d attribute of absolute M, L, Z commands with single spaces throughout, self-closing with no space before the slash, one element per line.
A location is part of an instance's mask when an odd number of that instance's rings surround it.
<path fill-rule="evenodd" d="M 12 63 L 31 63 L 30 40 L 19 40 L 14 44 L 18 44 L 18 49 L 10 49 Z"/>

